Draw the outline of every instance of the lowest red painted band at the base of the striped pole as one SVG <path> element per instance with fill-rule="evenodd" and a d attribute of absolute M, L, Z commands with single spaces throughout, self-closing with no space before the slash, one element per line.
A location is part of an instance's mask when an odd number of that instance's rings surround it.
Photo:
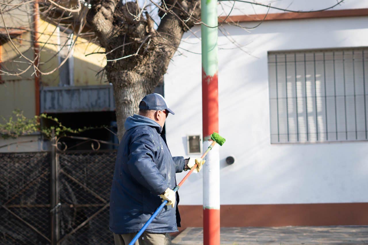
<path fill-rule="evenodd" d="M 220 210 L 203 210 L 203 241 L 204 245 L 219 244 L 220 242 Z"/>

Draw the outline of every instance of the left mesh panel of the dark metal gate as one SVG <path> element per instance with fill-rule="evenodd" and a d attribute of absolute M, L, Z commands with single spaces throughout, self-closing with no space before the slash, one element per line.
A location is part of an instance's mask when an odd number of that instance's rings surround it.
<path fill-rule="evenodd" d="M 0 153 L 0 244 L 50 244 L 49 152 Z"/>

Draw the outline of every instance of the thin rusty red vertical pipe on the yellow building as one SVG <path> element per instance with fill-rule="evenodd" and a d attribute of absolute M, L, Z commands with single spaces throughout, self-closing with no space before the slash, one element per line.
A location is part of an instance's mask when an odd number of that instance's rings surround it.
<path fill-rule="evenodd" d="M 38 26 L 39 26 L 39 6 L 38 0 L 34 3 L 34 24 L 33 24 L 33 48 L 35 52 L 35 66 L 38 67 L 39 61 L 39 45 L 38 45 Z M 35 106 L 36 106 L 36 116 L 40 114 L 40 73 L 36 71 L 35 73 Z"/>

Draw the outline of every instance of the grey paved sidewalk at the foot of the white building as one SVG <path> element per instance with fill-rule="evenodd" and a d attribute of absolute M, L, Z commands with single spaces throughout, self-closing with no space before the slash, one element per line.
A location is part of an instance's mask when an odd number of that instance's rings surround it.
<path fill-rule="evenodd" d="M 368 244 L 368 226 L 223 227 L 221 244 Z M 203 229 L 188 227 L 172 240 L 177 245 L 203 244 Z"/>

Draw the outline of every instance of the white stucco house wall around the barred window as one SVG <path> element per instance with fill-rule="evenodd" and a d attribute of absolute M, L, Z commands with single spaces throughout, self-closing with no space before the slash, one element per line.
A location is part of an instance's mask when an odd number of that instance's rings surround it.
<path fill-rule="evenodd" d="M 349 1 L 350 2 L 350 1 Z M 267 52 L 368 46 L 368 17 L 264 22 L 219 32 L 221 204 L 368 202 L 368 142 L 270 144 Z M 255 24 L 255 23 L 254 23 Z M 244 25 L 252 26 L 252 23 Z M 199 26 L 192 29 L 200 36 Z M 173 156 L 188 156 L 186 136 L 202 132 L 201 42 L 185 34 L 164 77 L 174 110 L 166 121 Z M 248 52 L 248 53 L 246 53 Z M 227 165 L 227 156 L 236 161 Z M 186 173 L 177 174 L 180 181 Z M 180 203 L 202 205 L 202 175 L 180 188 Z"/>

